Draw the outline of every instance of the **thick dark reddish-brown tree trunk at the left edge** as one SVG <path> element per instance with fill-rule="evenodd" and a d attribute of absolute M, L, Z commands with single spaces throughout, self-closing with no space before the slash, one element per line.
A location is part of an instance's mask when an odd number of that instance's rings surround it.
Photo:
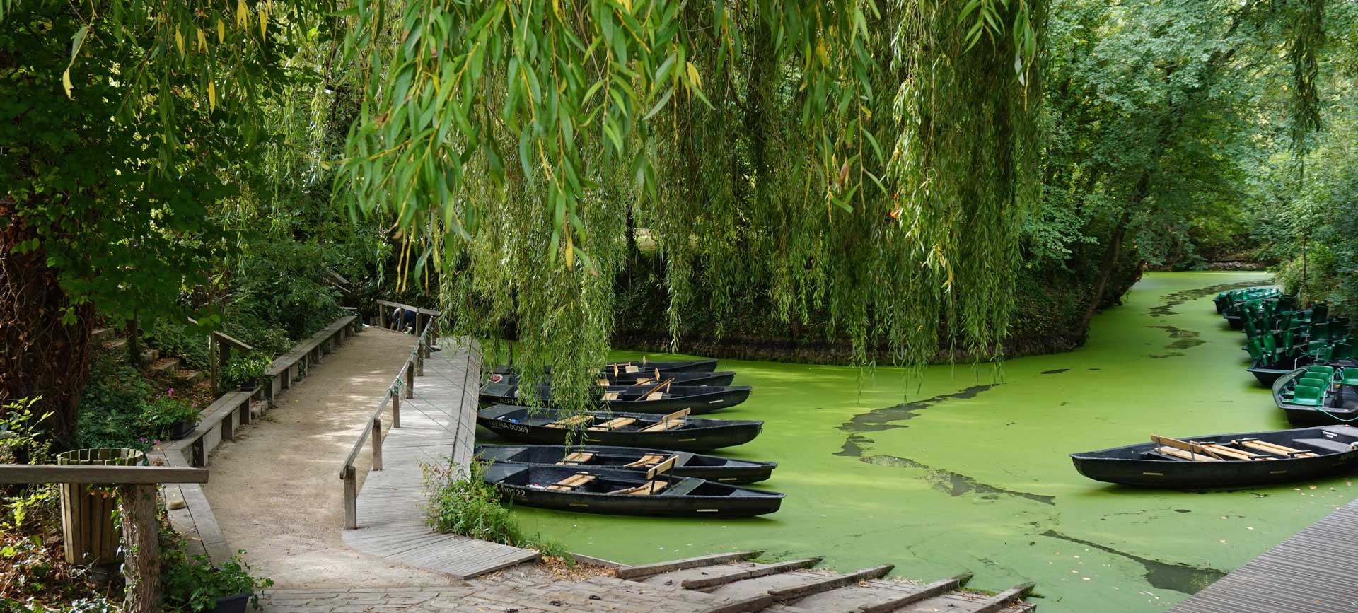
<path fill-rule="evenodd" d="M 94 308 L 71 304 L 41 243 L 33 252 L 14 252 L 16 244 L 37 236 L 4 197 L 0 220 L 11 221 L 0 225 L 0 404 L 41 397 L 38 414 L 52 412 L 43 426 L 58 443 L 69 445 L 80 391 L 90 377 Z M 67 313 L 75 323 L 61 321 Z"/>

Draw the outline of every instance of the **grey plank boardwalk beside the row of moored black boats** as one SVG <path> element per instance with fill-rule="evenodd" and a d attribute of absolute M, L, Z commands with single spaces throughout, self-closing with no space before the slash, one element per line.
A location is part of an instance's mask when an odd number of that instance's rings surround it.
<path fill-rule="evenodd" d="M 384 469 L 368 473 L 359 492 L 359 529 L 345 530 L 344 541 L 364 553 L 469 579 L 538 553 L 425 526 L 421 462 L 451 458 L 466 469 L 477 433 L 479 354 L 452 340 L 441 346 L 425 359 L 414 397 L 402 400 L 401 427 L 390 429 L 382 445 Z"/>

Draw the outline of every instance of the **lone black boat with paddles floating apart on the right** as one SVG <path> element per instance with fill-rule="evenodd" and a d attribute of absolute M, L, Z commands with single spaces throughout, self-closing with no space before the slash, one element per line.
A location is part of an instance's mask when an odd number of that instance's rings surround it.
<path fill-rule="evenodd" d="M 1358 467 L 1358 429 L 1319 426 L 1210 434 L 1073 453 L 1081 475 L 1107 483 L 1177 490 L 1267 486 Z"/>

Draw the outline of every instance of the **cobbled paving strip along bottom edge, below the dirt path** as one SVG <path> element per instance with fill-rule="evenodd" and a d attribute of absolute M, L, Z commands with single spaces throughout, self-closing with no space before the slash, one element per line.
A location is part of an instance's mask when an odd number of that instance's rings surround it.
<path fill-rule="evenodd" d="M 612 576 L 557 580 L 532 566 L 469 582 L 449 579 L 448 586 L 269 590 L 261 598 L 263 613 L 695 613 L 716 602 L 708 594 Z"/>

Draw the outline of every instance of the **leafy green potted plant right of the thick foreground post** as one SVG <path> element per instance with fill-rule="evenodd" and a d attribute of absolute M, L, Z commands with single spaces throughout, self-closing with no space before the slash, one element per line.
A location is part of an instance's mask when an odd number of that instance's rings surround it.
<path fill-rule="evenodd" d="M 244 613 L 259 608 L 259 591 L 273 579 L 250 576 L 250 564 L 240 559 L 213 566 L 208 556 L 187 557 L 175 551 L 162 568 L 162 602 L 166 610 L 191 613 Z"/>

